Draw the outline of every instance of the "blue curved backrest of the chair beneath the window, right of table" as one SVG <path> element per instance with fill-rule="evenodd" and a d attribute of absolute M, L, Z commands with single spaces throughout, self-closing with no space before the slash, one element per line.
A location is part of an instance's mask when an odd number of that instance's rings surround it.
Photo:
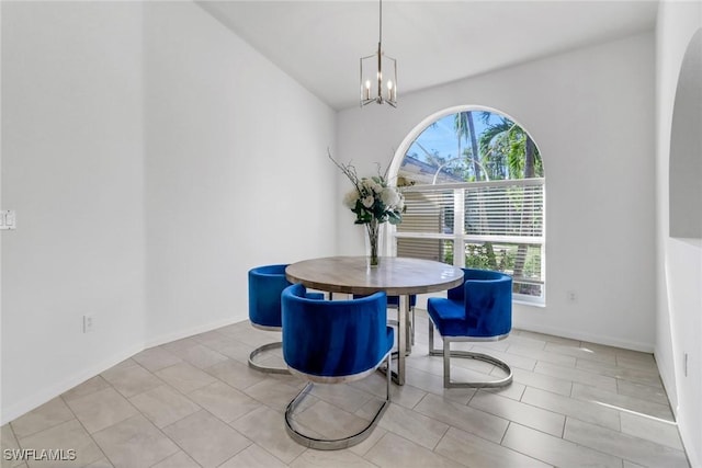
<path fill-rule="evenodd" d="M 488 270 L 463 269 L 463 285 L 449 289 L 462 303 L 465 329 L 451 335 L 498 336 L 512 329 L 512 277 Z"/>

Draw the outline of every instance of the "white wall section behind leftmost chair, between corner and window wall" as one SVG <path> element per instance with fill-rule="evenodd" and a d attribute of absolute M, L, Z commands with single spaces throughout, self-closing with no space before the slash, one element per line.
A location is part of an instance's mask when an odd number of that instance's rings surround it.
<path fill-rule="evenodd" d="M 333 253 L 335 114 L 189 2 L 145 5 L 152 343 L 248 318 L 247 271 Z"/>

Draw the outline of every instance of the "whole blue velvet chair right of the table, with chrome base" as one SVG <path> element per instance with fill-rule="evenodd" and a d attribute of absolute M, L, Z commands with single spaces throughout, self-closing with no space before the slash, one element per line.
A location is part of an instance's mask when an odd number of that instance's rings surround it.
<path fill-rule="evenodd" d="M 503 340 L 512 329 L 512 277 L 488 270 L 463 269 L 464 283 L 448 293 L 448 298 L 430 298 L 429 354 L 443 356 L 443 386 L 501 387 L 512 381 L 507 363 L 487 354 L 451 351 L 455 341 L 486 342 Z M 443 340 L 443 350 L 434 349 L 434 326 Z M 451 380 L 451 357 L 467 357 L 492 364 L 507 377 L 490 381 L 457 383 Z"/>

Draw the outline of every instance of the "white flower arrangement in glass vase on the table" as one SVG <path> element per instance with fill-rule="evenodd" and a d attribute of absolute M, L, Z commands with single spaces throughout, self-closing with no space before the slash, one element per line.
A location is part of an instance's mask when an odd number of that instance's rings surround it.
<path fill-rule="evenodd" d="M 387 169 L 381 173 L 381 165 L 377 167 L 377 175 L 371 178 L 359 178 L 355 168 L 337 162 L 331 153 L 329 159 L 343 172 L 351 181 L 353 189 L 343 197 L 343 205 L 355 214 L 356 225 L 365 225 L 371 243 L 371 265 L 378 264 L 377 238 L 380 225 L 389 222 L 399 225 L 403 222 L 405 213 L 405 197 L 398 190 L 387 183 Z"/>

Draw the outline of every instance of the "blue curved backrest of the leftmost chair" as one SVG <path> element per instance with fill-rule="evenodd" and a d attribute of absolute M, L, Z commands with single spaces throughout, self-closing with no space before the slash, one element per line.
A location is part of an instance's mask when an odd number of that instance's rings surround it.
<path fill-rule="evenodd" d="M 280 328 L 281 294 L 291 285 L 287 265 L 265 265 L 249 271 L 249 320 L 263 328 Z"/>

